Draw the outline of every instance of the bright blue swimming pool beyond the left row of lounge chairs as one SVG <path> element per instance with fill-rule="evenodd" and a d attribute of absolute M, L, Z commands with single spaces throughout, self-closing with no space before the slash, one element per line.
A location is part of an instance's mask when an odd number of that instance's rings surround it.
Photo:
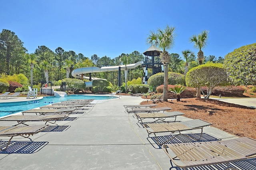
<path fill-rule="evenodd" d="M 22 112 L 25 110 L 30 110 L 33 108 L 38 108 L 38 107 L 45 106 L 52 103 L 70 100 L 70 99 L 106 100 L 106 99 L 114 99 L 114 98 L 116 97 L 72 94 L 72 95 L 68 95 L 67 97 L 60 97 L 60 98 L 57 98 L 54 96 L 48 96 L 40 100 L 30 100 L 30 101 L 23 101 L 23 102 L 6 102 L 6 103 L 0 103 L 0 117 Z"/>

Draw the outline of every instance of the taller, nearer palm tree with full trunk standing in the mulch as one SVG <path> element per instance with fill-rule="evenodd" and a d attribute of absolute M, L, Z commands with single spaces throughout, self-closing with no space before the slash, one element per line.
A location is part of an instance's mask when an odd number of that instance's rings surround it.
<path fill-rule="evenodd" d="M 157 32 L 150 31 L 147 43 L 158 46 L 162 49 L 160 52 L 161 62 L 164 64 L 164 92 L 163 101 L 168 99 L 168 64 L 170 63 L 170 54 L 167 50 L 174 46 L 174 38 L 176 36 L 175 27 L 166 26 L 164 30 L 158 28 Z"/>

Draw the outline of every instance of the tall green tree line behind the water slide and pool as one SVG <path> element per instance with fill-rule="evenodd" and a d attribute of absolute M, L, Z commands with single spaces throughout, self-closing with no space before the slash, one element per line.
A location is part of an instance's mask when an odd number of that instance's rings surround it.
<path fill-rule="evenodd" d="M 124 57 L 128 59 L 122 60 Z M 184 74 L 186 70 L 199 65 L 198 59 L 191 50 L 182 51 L 182 57 L 179 54 L 170 54 L 168 71 Z M 138 51 L 134 51 L 130 54 L 121 54 L 112 59 L 108 56 L 100 58 L 96 54 L 88 58 L 84 54 L 65 51 L 61 47 L 52 51 L 47 46 L 38 46 L 34 53 L 28 54 L 24 43 L 18 36 L 10 30 L 3 29 L 0 33 L 0 60 L 2 61 L 0 62 L 0 73 L 8 75 L 22 73 L 28 78 L 33 75 L 33 82 L 30 83 L 38 84 L 41 81 L 48 82 L 62 80 L 63 78 L 73 78 L 71 72 L 76 68 L 90 66 L 101 68 L 102 66 L 132 64 L 144 61 L 145 56 Z M 222 63 L 223 58 L 204 56 L 204 59 L 200 62 Z M 149 69 L 149 76 L 151 76 L 150 72 Z M 93 73 L 92 76 L 107 79 L 112 84 L 118 84 L 117 72 Z M 141 67 L 128 70 L 128 80 L 143 76 L 144 72 Z M 124 72 L 122 79 L 124 80 Z M 122 82 L 124 82 L 123 80 Z"/>

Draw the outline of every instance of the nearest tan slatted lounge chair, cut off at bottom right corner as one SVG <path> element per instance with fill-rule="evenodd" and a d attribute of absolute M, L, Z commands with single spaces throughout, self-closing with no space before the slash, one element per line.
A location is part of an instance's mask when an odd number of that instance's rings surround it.
<path fill-rule="evenodd" d="M 256 140 L 243 137 L 212 142 L 166 144 L 162 149 L 176 166 L 184 170 L 212 164 L 226 164 L 225 170 L 236 170 L 229 163 L 255 158 Z M 176 156 L 172 157 L 170 151 Z"/>

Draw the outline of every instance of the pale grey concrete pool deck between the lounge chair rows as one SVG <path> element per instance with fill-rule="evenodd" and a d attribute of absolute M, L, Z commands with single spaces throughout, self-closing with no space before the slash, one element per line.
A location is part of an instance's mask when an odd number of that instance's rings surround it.
<path fill-rule="evenodd" d="M 33 148 L 20 146 L 16 150 L 0 152 L 0 167 L 4 170 L 169 170 L 172 166 L 168 156 L 148 137 L 133 114 L 124 112 L 123 105 L 142 101 L 144 99 L 134 96 L 95 100 L 94 107 L 86 113 L 70 115 L 76 120 L 58 121 L 58 125 L 67 128 L 62 132 L 40 132 L 31 136 L 32 144 L 41 144 L 38 150 L 33 152 Z M 177 117 L 177 121 L 185 120 L 190 119 Z M 1 126 L 15 123 L 0 122 Z M 200 133 L 200 130 L 188 131 L 191 132 Z M 203 133 L 222 140 L 237 138 L 211 126 L 203 128 Z M 0 142 L 6 139 L 1 137 Z M 28 139 L 16 137 L 12 141 Z"/>

